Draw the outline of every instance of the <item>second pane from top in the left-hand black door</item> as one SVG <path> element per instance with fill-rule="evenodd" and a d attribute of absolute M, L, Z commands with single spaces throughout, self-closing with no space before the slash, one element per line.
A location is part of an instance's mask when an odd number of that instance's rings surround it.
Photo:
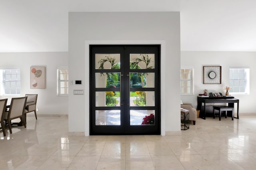
<path fill-rule="evenodd" d="M 96 88 L 120 88 L 120 73 L 95 73 Z"/>

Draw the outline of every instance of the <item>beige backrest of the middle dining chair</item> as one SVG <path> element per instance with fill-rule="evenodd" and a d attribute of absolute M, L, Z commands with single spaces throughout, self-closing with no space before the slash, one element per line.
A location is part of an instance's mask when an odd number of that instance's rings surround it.
<path fill-rule="evenodd" d="M 24 114 L 27 97 L 12 98 L 8 118 L 20 117 Z"/>

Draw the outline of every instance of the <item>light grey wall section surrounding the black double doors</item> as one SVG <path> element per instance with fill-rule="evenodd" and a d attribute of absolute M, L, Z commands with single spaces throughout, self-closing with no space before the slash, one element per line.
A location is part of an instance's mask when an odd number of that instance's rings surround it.
<path fill-rule="evenodd" d="M 81 79 L 82 86 L 71 85 L 69 132 L 85 132 L 89 123 L 89 56 L 85 41 L 164 42 L 161 56 L 162 129 L 180 131 L 180 13 L 179 12 L 70 12 L 70 80 Z M 84 89 L 85 95 L 72 95 Z M 173 97 L 170 97 L 173 96 Z M 79 119 L 78 119 L 79 118 Z M 164 132 L 162 132 L 164 134 Z"/>

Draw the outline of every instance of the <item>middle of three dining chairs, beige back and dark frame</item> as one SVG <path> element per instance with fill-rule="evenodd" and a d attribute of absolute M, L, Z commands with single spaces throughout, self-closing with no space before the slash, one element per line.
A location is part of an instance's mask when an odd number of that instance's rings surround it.
<path fill-rule="evenodd" d="M 4 113 L 4 120 L 7 120 L 10 133 L 12 134 L 12 123 L 13 119 L 21 118 L 21 121 L 26 128 L 25 118 L 25 106 L 28 97 L 16 97 L 12 98 L 9 111 Z"/>

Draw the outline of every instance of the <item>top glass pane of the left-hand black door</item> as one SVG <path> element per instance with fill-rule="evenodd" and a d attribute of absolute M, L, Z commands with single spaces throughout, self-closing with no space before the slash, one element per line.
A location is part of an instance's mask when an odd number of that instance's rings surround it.
<path fill-rule="evenodd" d="M 120 69 L 120 54 L 95 54 L 95 69 Z"/>

